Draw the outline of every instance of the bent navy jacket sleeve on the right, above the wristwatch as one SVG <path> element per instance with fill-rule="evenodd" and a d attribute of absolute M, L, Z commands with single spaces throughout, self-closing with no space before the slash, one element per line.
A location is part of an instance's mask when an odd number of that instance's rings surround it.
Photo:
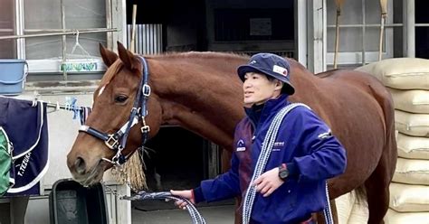
<path fill-rule="evenodd" d="M 298 176 L 299 180 L 315 181 L 344 173 L 346 151 L 331 134 L 329 126 L 305 107 L 297 107 L 291 113 L 296 114 L 292 123 L 300 135 L 295 150 L 301 150 L 304 154 L 294 157 L 291 163 L 286 163 L 291 176 Z"/>

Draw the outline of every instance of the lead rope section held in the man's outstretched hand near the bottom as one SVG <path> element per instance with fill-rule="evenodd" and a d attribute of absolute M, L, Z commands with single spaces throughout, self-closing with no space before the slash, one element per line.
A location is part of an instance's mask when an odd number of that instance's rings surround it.
<path fill-rule="evenodd" d="M 152 192 L 149 193 L 147 191 L 139 191 L 137 195 L 129 197 L 122 196 L 120 197 L 122 200 L 136 201 L 136 200 L 174 200 L 174 201 L 186 201 L 186 210 L 188 210 L 189 215 L 191 216 L 192 223 L 194 224 L 205 224 L 205 219 L 201 216 L 201 214 L 196 210 L 195 205 L 187 200 L 186 198 L 172 195 L 168 191 L 162 192 Z"/>

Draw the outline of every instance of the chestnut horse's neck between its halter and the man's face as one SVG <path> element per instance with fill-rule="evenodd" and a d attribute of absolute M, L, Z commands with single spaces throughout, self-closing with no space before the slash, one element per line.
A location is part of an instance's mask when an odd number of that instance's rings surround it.
<path fill-rule="evenodd" d="M 152 85 L 164 123 L 185 127 L 229 148 L 234 127 L 243 117 L 242 86 L 234 76 L 243 61 L 214 60 L 155 62 L 162 72 L 154 71 Z"/>

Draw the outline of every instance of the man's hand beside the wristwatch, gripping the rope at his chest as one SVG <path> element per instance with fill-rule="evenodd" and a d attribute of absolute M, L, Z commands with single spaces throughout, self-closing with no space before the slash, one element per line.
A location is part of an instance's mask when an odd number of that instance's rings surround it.
<path fill-rule="evenodd" d="M 276 167 L 270 171 L 262 173 L 261 176 L 256 178 L 253 185 L 257 192 L 261 192 L 263 197 L 268 197 L 273 191 L 278 189 L 283 181 L 279 177 L 279 167 Z"/>

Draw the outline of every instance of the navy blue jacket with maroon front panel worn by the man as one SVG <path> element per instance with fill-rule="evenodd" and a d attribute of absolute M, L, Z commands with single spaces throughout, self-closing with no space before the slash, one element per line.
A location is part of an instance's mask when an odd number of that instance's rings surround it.
<path fill-rule="evenodd" d="M 244 197 L 272 119 L 290 104 L 287 95 L 268 100 L 259 115 L 246 109 L 236 126 L 231 169 L 195 189 L 196 201 Z M 295 107 L 284 117 L 265 172 L 286 163 L 290 177 L 269 197 L 257 193 L 255 223 L 296 223 L 326 205 L 325 182 L 346 169 L 346 152 L 327 126 L 307 107 Z M 240 210 L 243 210 L 243 201 Z"/>

